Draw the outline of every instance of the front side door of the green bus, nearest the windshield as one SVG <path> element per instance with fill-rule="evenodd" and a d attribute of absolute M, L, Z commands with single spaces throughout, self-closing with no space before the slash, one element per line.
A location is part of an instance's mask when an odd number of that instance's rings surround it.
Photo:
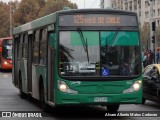
<path fill-rule="evenodd" d="M 49 42 L 48 42 L 48 101 L 54 102 L 54 33 L 49 33 Z"/>

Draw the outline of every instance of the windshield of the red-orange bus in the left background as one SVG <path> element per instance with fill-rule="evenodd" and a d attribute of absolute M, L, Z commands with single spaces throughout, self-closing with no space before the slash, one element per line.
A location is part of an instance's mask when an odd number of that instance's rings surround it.
<path fill-rule="evenodd" d="M 2 56 L 5 59 L 12 59 L 12 40 L 3 41 Z"/>

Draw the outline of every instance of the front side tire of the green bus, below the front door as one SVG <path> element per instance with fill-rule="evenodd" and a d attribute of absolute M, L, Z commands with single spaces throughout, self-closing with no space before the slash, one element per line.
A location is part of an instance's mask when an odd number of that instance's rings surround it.
<path fill-rule="evenodd" d="M 44 112 L 48 112 L 48 105 L 45 103 L 45 92 L 44 92 L 44 86 L 43 83 L 41 83 L 40 85 L 40 89 L 39 89 L 39 96 L 40 96 L 40 104 L 41 104 L 41 108 L 43 109 Z"/>

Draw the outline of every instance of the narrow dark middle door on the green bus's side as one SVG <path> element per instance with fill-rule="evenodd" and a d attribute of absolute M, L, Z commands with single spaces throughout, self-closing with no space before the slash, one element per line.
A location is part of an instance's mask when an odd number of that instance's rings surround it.
<path fill-rule="evenodd" d="M 28 57 L 27 57 L 27 78 L 28 78 L 28 93 L 32 94 L 32 40 L 33 34 L 28 35 Z"/>

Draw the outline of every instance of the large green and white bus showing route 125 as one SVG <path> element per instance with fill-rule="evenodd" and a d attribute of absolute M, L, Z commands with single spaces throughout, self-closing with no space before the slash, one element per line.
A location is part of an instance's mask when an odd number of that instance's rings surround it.
<path fill-rule="evenodd" d="M 13 30 L 13 83 L 20 96 L 48 105 L 102 105 L 142 100 L 137 14 L 62 10 Z"/>

